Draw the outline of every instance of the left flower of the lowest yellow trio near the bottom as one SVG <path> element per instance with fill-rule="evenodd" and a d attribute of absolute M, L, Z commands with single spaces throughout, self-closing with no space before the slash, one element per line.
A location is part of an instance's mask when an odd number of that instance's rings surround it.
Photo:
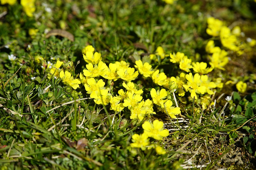
<path fill-rule="evenodd" d="M 131 138 L 131 141 L 133 142 L 131 143 L 131 147 L 133 148 L 141 148 L 141 150 L 144 151 L 146 146 L 149 145 L 149 137 L 145 133 L 141 135 L 134 134 Z"/>

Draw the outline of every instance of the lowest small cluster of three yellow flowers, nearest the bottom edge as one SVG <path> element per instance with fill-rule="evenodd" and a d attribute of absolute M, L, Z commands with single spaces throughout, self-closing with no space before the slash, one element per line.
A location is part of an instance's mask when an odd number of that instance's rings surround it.
<path fill-rule="evenodd" d="M 142 124 L 142 128 L 144 130 L 142 134 L 132 135 L 131 140 L 133 143 L 131 143 L 130 146 L 133 148 L 141 148 L 143 151 L 155 148 L 157 154 L 165 154 L 166 151 L 161 146 L 158 146 L 155 143 L 150 144 L 150 138 L 163 140 L 163 137 L 169 136 L 169 131 L 167 129 L 163 129 L 163 122 L 159 120 L 154 120 L 153 123 L 145 121 Z"/>

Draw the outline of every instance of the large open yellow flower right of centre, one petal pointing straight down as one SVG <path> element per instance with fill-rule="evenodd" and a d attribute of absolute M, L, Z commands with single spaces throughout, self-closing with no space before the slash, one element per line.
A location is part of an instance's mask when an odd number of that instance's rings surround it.
<path fill-rule="evenodd" d="M 191 97 L 197 99 L 198 94 L 204 94 L 206 92 L 206 87 L 201 86 L 200 75 L 196 73 L 194 76 L 192 73 L 186 74 L 187 84 L 183 84 L 186 90 L 189 90 Z"/>

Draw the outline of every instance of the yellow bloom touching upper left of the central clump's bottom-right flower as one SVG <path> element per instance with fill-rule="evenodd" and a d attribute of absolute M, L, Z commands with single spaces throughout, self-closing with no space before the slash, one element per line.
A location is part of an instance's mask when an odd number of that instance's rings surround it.
<path fill-rule="evenodd" d="M 164 88 L 161 89 L 160 92 L 159 92 L 159 90 L 156 91 L 154 88 L 152 88 L 151 91 L 150 91 L 150 95 L 151 95 L 151 97 L 153 99 L 153 102 L 155 104 L 164 107 L 163 103 L 165 103 L 165 101 L 167 100 L 167 99 L 163 100 L 167 96 L 167 92 Z"/>

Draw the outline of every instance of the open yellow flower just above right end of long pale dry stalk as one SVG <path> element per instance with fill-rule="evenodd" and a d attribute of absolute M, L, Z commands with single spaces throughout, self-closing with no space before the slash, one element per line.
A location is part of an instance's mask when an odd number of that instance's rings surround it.
<path fill-rule="evenodd" d="M 85 84 L 85 90 L 87 94 L 90 94 L 91 98 L 97 99 L 99 95 L 107 95 L 107 91 L 102 90 L 104 86 L 105 83 L 102 79 L 96 82 L 94 78 L 89 78 L 87 84 Z"/>

